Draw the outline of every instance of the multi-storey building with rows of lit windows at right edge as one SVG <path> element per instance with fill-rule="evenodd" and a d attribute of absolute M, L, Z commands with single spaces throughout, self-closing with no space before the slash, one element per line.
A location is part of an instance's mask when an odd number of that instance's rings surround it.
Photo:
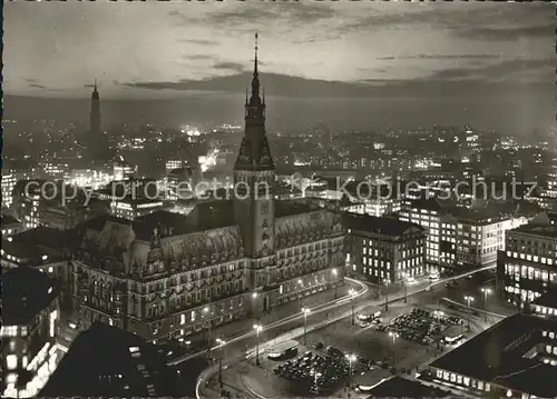
<path fill-rule="evenodd" d="M 504 298 L 520 308 L 557 286 L 557 213 L 540 213 L 507 231 L 497 278 Z"/>

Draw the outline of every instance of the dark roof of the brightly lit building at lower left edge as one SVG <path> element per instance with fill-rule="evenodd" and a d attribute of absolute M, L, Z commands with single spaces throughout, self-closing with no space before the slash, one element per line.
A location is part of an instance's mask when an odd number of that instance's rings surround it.
<path fill-rule="evenodd" d="M 26 326 L 58 295 L 55 281 L 38 269 L 19 267 L 2 276 L 2 321 Z"/>

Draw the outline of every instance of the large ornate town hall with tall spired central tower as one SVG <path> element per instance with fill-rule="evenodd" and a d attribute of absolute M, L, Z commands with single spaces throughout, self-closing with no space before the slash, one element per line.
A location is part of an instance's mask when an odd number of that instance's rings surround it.
<path fill-rule="evenodd" d="M 84 225 L 72 261 L 82 327 L 99 320 L 163 343 L 342 281 L 341 217 L 273 196 L 257 59 L 245 109 L 233 200 Z"/>

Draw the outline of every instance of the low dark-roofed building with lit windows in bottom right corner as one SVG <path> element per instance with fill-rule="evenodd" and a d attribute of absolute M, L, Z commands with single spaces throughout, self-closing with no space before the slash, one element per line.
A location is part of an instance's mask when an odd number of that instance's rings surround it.
<path fill-rule="evenodd" d="M 547 311 L 555 299 L 538 298 L 530 315 L 506 318 L 433 361 L 433 382 L 486 398 L 556 398 L 557 317 Z"/>

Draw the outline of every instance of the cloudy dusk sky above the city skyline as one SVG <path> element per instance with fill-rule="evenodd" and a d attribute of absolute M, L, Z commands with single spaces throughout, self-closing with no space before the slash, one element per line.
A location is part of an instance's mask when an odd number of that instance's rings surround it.
<path fill-rule="evenodd" d="M 267 98 L 315 114 L 419 108 L 416 122 L 526 130 L 555 116 L 548 3 L 8 2 L 4 16 L 7 94 L 86 98 L 98 78 L 104 99 L 236 99 L 258 31 Z"/>

